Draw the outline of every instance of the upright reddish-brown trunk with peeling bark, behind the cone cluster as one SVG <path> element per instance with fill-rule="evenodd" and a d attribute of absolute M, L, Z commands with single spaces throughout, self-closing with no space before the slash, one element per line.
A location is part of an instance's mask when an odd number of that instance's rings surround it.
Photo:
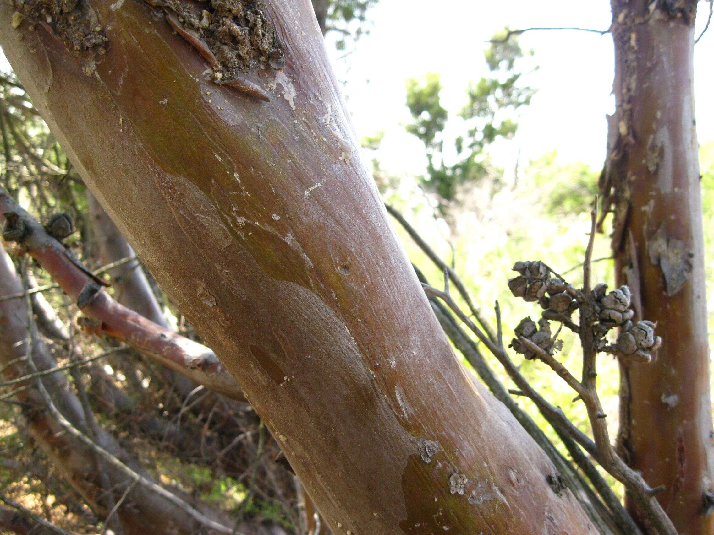
<path fill-rule="evenodd" d="M 614 209 L 618 284 L 664 343 L 621 366 L 619 446 L 680 533 L 705 516 L 714 457 L 698 143 L 693 101 L 697 2 L 613 0 L 617 104 L 600 187 Z M 626 500 L 633 514 L 636 507 Z M 643 522 L 640 514 L 640 522 Z"/>

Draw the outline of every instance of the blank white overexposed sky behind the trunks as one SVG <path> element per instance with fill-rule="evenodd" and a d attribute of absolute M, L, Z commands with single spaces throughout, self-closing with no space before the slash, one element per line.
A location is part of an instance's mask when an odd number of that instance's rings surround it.
<path fill-rule="evenodd" d="M 438 6 L 438 7 L 437 7 Z M 344 59 L 328 46 L 358 136 L 384 131 L 379 158 L 394 173 L 419 174 L 424 158 L 416 138 L 405 133 L 410 121 L 405 81 L 441 73 L 442 104 L 458 113 L 469 81 L 486 76 L 483 41 L 505 26 L 579 26 L 607 29 L 609 0 L 380 0 L 370 11 L 371 34 Z M 700 1 L 696 34 L 708 4 Z M 527 83 L 538 89 L 513 143 L 494 153 L 508 167 L 521 151 L 521 164 L 558 149 L 558 160 L 601 167 L 605 157 L 605 113 L 614 99 L 613 45 L 609 34 L 531 31 L 521 36 L 535 51 L 540 69 Z M 695 102 L 700 143 L 714 140 L 714 24 L 695 46 Z"/>

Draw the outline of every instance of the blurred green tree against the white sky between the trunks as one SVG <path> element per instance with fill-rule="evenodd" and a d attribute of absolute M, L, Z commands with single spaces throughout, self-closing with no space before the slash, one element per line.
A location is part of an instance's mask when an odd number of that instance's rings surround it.
<path fill-rule="evenodd" d="M 413 117 L 406 130 L 426 149 L 426 175 L 420 182 L 436 193 L 442 216 L 448 216 L 448 207 L 458 200 L 461 185 L 478 183 L 489 175 L 486 148 L 498 138 L 511 138 L 516 133 L 516 111 L 527 106 L 535 92 L 520 83 L 522 73 L 516 66 L 524 54 L 515 38 L 493 42 L 484 56 L 491 76 L 468 87 L 468 104 L 459 113 L 466 128 L 453 141 L 455 163 L 446 163 L 444 157 L 444 130 L 449 117 L 441 105 L 438 74 L 429 73 L 406 84 L 406 105 Z"/>

